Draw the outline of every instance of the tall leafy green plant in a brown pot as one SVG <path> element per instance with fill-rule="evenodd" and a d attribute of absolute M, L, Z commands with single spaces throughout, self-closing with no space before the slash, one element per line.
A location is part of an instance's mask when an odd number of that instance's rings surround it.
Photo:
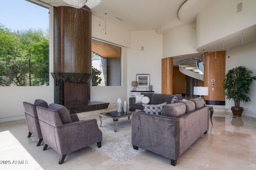
<path fill-rule="evenodd" d="M 256 80 L 256 76 L 252 77 L 250 74 L 252 74 L 251 70 L 248 70 L 245 66 L 238 66 L 228 70 L 223 81 L 227 99 L 232 99 L 235 102 L 235 106 L 231 107 L 234 116 L 241 116 L 244 111 L 244 108 L 240 107 L 240 101 L 251 101 L 248 94 L 252 80 Z"/>

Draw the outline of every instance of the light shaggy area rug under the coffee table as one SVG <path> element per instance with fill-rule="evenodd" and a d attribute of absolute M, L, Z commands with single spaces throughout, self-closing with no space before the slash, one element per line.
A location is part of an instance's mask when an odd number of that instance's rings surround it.
<path fill-rule="evenodd" d="M 113 119 L 102 119 L 101 127 L 100 121 L 97 123 L 102 131 L 102 143 L 100 148 L 97 144 L 91 145 L 91 148 L 124 163 L 145 151 L 141 148 L 135 150 L 132 147 L 131 118 L 130 120 L 128 117 L 118 119 L 117 132 L 114 132 Z"/>

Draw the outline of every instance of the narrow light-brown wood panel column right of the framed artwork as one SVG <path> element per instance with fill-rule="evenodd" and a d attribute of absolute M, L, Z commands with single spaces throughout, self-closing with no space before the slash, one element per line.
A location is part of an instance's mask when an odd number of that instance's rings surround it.
<path fill-rule="evenodd" d="M 172 58 L 162 59 L 162 94 L 172 94 Z"/>

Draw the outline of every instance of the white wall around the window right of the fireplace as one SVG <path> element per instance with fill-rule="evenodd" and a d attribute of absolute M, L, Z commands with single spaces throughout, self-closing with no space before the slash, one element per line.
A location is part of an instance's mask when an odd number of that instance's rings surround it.
<path fill-rule="evenodd" d="M 116 106 L 116 100 L 127 100 L 127 47 L 131 47 L 131 32 L 117 25 L 105 23 L 92 15 L 92 37 L 122 46 L 122 86 L 91 86 L 91 101 L 109 102 L 109 107 Z"/>

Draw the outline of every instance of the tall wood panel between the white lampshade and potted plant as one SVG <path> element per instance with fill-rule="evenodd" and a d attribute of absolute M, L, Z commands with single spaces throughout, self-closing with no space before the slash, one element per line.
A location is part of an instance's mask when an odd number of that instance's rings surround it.
<path fill-rule="evenodd" d="M 204 100 L 225 101 L 222 83 L 226 73 L 226 51 L 205 53 L 204 56 L 204 86 L 209 87 L 209 94 L 204 96 Z M 212 79 L 215 81 L 212 82 Z"/>

